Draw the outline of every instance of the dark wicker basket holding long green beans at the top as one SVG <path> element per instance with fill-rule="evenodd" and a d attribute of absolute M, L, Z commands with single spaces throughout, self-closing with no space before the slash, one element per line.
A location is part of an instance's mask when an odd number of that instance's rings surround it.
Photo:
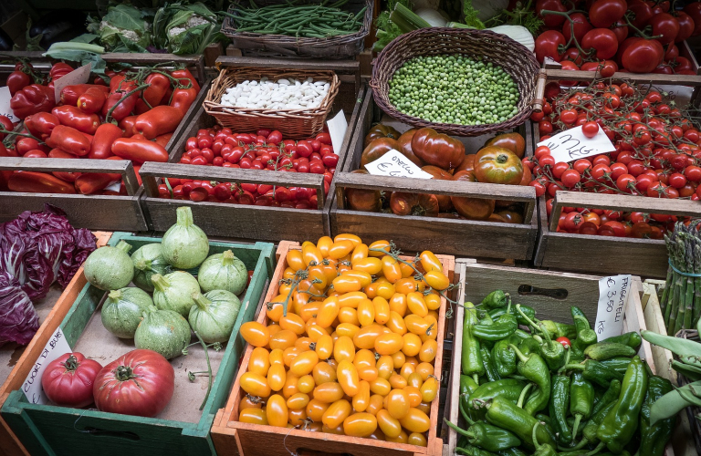
<path fill-rule="evenodd" d="M 229 14 L 250 0 L 235 0 L 229 5 Z M 287 0 L 256 0 L 256 6 L 287 3 Z M 322 0 L 305 0 L 309 5 L 322 3 Z M 349 0 L 343 10 L 358 14 L 365 7 L 361 29 L 351 35 L 330 36 L 329 38 L 309 38 L 306 36 L 264 35 L 251 32 L 237 32 L 234 19 L 226 16 L 222 33 L 233 41 L 233 46 L 244 51 L 246 56 L 256 57 L 308 57 L 308 58 L 349 58 L 362 52 L 365 36 L 370 33 L 372 22 L 372 0 Z"/>

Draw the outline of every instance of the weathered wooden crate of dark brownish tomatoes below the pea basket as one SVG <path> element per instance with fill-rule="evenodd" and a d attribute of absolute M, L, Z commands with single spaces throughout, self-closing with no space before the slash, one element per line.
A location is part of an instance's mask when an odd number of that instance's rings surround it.
<path fill-rule="evenodd" d="M 336 177 L 336 195 L 331 203 L 331 233 L 356 233 L 362 239 L 392 239 L 406 251 L 431 250 L 442 254 L 529 260 L 538 234 L 535 189 L 520 185 L 419 180 L 351 173 L 360 166 L 365 132 L 378 120 L 372 91 L 362 101 L 358 126 L 346 151 L 342 172 Z M 396 123 L 396 122 L 395 122 Z M 527 123 L 528 125 L 528 123 Z M 400 131 L 406 125 L 392 125 Z M 524 132 L 528 132 L 526 129 Z M 524 135 L 525 137 L 525 135 Z M 466 150 L 476 152 L 488 137 L 464 139 Z M 532 153 L 526 139 L 527 155 Z M 463 139 L 461 139 L 463 140 Z M 382 212 L 359 212 L 345 207 L 344 189 L 361 188 L 384 192 L 420 192 L 481 199 L 525 202 L 524 223 L 492 223 L 437 217 L 399 216 Z M 402 227 L 400 230 L 397 227 Z"/>

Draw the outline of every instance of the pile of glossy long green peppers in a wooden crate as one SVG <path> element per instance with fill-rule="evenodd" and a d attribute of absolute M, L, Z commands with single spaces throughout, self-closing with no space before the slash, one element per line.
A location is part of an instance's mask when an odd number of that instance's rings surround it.
<path fill-rule="evenodd" d="M 541 321 L 501 290 L 465 310 L 459 408 L 469 427 L 446 421 L 462 435 L 456 453 L 663 454 L 674 420 L 650 410 L 672 386 L 636 356 L 639 334 L 598 341 L 578 307 L 571 325 Z"/>

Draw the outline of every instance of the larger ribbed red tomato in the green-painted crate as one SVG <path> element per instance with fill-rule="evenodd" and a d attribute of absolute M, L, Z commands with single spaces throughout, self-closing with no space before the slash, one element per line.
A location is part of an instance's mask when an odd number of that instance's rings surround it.
<path fill-rule="evenodd" d="M 99 371 L 93 387 L 101 411 L 155 417 L 173 397 L 175 371 L 152 350 L 136 349 Z"/>

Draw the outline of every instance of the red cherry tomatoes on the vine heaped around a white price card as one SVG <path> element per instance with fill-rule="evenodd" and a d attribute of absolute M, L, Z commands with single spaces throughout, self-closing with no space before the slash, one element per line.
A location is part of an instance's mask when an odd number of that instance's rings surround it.
<path fill-rule="evenodd" d="M 539 119 L 540 140 L 560 130 L 582 127 L 587 136 L 601 129 L 616 150 L 573 162 L 555 162 L 547 146 L 524 159 L 536 194 L 545 195 L 550 215 L 559 190 L 698 200 L 701 196 L 701 133 L 685 113 L 654 88 L 594 82 L 570 89 L 546 103 Z M 642 212 L 563 208 L 559 231 L 661 239 L 677 218 Z"/>

